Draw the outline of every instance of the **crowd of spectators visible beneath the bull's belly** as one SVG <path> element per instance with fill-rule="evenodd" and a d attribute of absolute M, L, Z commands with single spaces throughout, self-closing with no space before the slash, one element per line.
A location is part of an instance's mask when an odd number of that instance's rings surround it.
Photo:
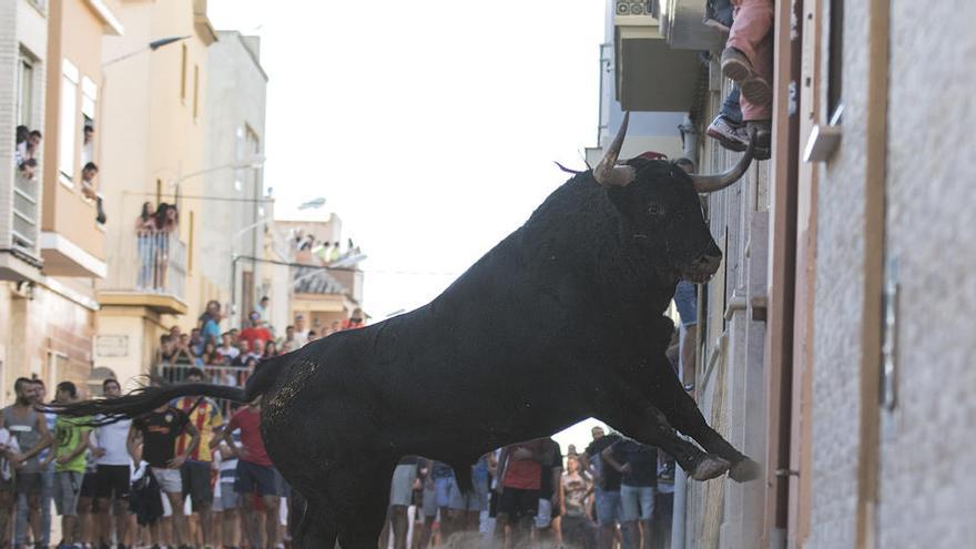
<path fill-rule="evenodd" d="M 602 427 L 582 453 L 552 438 L 499 448 L 471 479 L 465 494 L 447 464 L 403 458 L 379 547 L 671 547 L 674 461 Z"/>

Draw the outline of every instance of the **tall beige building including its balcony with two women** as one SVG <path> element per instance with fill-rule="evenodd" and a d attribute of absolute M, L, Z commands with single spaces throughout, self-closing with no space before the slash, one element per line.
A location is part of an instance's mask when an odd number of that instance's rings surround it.
<path fill-rule="evenodd" d="M 122 37 L 103 41 L 100 131 L 105 236 L 118 254 L 98 287 L 96 366 L 121 379 L 148 370 L 160 336 L 189 331 L 218 282 L 204 275 L 201 234 L 207 130 L 209 48 L 217 41 L 202 0 L 122 2 Z M 155 41 L 174 39 L 152 48 Z M 169 230 L 141 230 L 143 207 L 174 206 Z M 170 214 L 173 216 L 173 214 Z M 226 283 L 223 283 L 226 285 Z"/>

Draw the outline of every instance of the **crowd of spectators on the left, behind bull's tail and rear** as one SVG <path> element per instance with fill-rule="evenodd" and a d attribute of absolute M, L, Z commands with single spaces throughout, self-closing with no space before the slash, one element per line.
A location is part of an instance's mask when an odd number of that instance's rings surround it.
<path fill-rule="evenodd" d="M 278 335 L 262 298 L 241 329 L 222 329 L 212 301 L 189 333 L 162 337 L 153 383 L 237 385 L 262 362 L 317 339 L 303 315 Z M 322 335 L 363 323 L 356 311 Z M 225 326 L 226 327 L 226 326 Z M 20 378 L 17 401 L 0 413 L 0 547 L 51 547 L 52 506 L 61 517 L 58 547 L 277 548 L 288 542 L 291 494 L 260 435 L 260 403 L 232 407 L 184 397 L 135 419 L 91 427 L 100 418 L 39 411 L 45 388 Z M 115 379 L 102 385 L 116 398 Z M 58 384 L 54 401 L 87 398 L 85 387 Z"/>

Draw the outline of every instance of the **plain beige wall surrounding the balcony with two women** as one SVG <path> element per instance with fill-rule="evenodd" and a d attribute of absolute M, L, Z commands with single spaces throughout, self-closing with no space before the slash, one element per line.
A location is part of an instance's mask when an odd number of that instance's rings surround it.
<path fill-rule="evenodd" d="M 150 366 L 164 326 L 175 324 L 189 331 L 207 299 L 225 302 L 230 292 L 226 282 L 209 279 L 201 272 L 201 262 L 206 257 L 200 234 L 207 230 L 207 203 L 186 197 L 205 194 L 203 177 L 186 176 L 212 167 L 204 160 L 204 109 L 206 48 L 213 37 L 205 26 L 194 23 L 192 0 L 126 1 L 115 13 L 125 34 L 103 39 L 104 60 L 144 50 L 146 43 L 160 38 L 190 37 L 156 51 L 141 51 L 104 69 L 101 125 L 111 139 L 103 142 L 101 189 L 108 215 L 118 220 L 108 227 L 109 246 L 120 257 L 134 256 L 134 224 L 143 202 L 151 202 L 154 209 L 160 202 L 175 202 L 180 240 L 187 246 L 186 315 L 160 315 L 148 303 L 113 306 L 99 313 L 99 334 L 124 336 L 126 344 L 124 356 L 100 355 L 96 363 L 128 378 Z M 100 288 L 138 294 L 135 277 L 134 268 L 110 264 L 109 276 Z"/>

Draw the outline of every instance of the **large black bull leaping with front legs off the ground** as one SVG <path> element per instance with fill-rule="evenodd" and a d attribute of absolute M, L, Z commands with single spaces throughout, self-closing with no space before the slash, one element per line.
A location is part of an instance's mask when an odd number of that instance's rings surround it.
<path fill-rule="evenodd" d="M 669 162 L 628 165 L 624 186 L 589 171 L 569 180 L 428 305 L 268 360 L 243 389 L 144 388 L 57 411 L 122 417 L 177 395 L 263 395 L 267 451 L 307 500 L 297 547 L 375 548 L 401 456 L 450 464 L 468 486 L 484 453 L 591 416 L 692 478 L 753 478 L 664 356 L 678 278 L 704 279 L 721 257 L 701 187 Z"/>

